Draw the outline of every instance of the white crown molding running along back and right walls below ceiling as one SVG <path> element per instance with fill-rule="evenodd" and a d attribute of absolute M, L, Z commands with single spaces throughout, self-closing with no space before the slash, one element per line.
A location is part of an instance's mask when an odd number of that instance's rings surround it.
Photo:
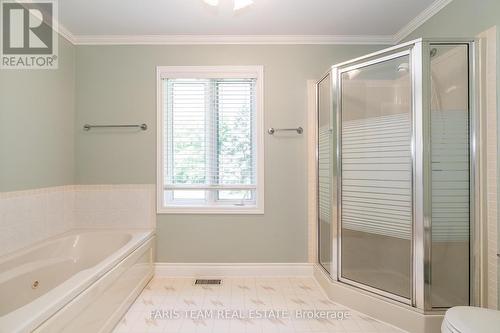
<path fill-rule="evenodd" d="M 452 1 L 434 1 L 394 35 L 74 35 L 60 22 L 57 32 L 73 45 L 394 45 Z"/>

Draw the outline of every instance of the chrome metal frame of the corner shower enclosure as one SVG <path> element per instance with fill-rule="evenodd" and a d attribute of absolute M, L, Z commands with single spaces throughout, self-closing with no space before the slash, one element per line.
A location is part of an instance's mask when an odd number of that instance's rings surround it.
<path fill-rule="evenodd" d="M 430 88 L 430 59 L 432 45 L 467 45 L 469 57 L 469 161 L 470 161 L 470 304 L 481 305 L 482 297 L 482 267 L 480 260 L 480 234 L 481 234 L 481 206 L 480 194 L 482 191 L 480 178 L 480 98 L 479 98 L 479 40 L 475 38 L 460 39 L 417 39 L 390 47 L 363 57 L 352 59 L 331 67 L 331 69 L 317 83 L 316 98 L 319 101 L 318 85 L 330 76 L 331 80 L 331 114 L 330 119 L 336 120 L 334 131 L 336 132 L 337 145 L 336 165 L 337 175 L 332 174 L 332 269 L 329 276 L 332 280 L 359 288 L 391 301 L 407 304 L 423 313 L 442 312 L 443 308 L 433 307 L 431 303 L 431 159 L 430 159 L 430 112 L 431 112 L 431 88 Z M 342 124 L 342 84 L 340 81 L 342 73 L 353 69 L 380 63 L 393 58 L 407 55 L 410 59 L 410 76 L 412 85 L 411 109 L 412 109 L 412 246 L 411 246 L 411 296 L 404 298 L 377 288 L 350 281 L 342 277 L 341 267 L 341 124 Z M 319 114 L 319 103 L 316 103 Z M 335 118 L 334 118 L 335 117 Z M 319 117 L 318 117 L 319 118 Z M 333 128 L 331 124 L 331 128 Z M 318 132 L 318 131 L 317 131 Z M 318 170 L 319 152 L 316 152 L 316 168 Z M 318 194 L 319 195 L 319 194 Z M 319 212 L 319 203 L 317 202 Z M 319 215 L 318 230 L 319 230 Z M 318 240 L 319 240 L 318 232 Z M 319 241 L 318 241 L 319 246 Z M 318 262 L 320 262 L 320 249 L 318 248 Z M 321 264 L 320 264 L 321 266 Z"/>

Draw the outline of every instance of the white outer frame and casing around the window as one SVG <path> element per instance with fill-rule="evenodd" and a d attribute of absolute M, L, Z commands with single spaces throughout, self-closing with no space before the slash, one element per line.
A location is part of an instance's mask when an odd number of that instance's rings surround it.
<path fill-rule="evenodd" d="M 255 78 L 255 205 L 164 205 L 164 110 L 163 79 L 234 79 Z M 264 67 L 263 66 L 157 66 L 157 152 L 156 152 L 156 212 L 158 214 L 264 214 Z"/>

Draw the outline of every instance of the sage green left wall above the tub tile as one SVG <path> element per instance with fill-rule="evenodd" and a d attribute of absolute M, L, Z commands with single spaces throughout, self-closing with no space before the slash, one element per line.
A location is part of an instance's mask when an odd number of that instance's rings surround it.
<path fill-rule="evenodd" d="M 57 70 L 0 70 L 0 192 L 75 181 L 75 47 Z"/>

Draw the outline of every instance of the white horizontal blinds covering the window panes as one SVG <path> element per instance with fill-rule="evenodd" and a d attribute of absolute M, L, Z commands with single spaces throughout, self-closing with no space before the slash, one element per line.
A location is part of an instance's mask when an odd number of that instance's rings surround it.
<path fill-rule="evenodd" d="M 166 204 L 256 200 L 256 79 L 162 79 Z"/>

